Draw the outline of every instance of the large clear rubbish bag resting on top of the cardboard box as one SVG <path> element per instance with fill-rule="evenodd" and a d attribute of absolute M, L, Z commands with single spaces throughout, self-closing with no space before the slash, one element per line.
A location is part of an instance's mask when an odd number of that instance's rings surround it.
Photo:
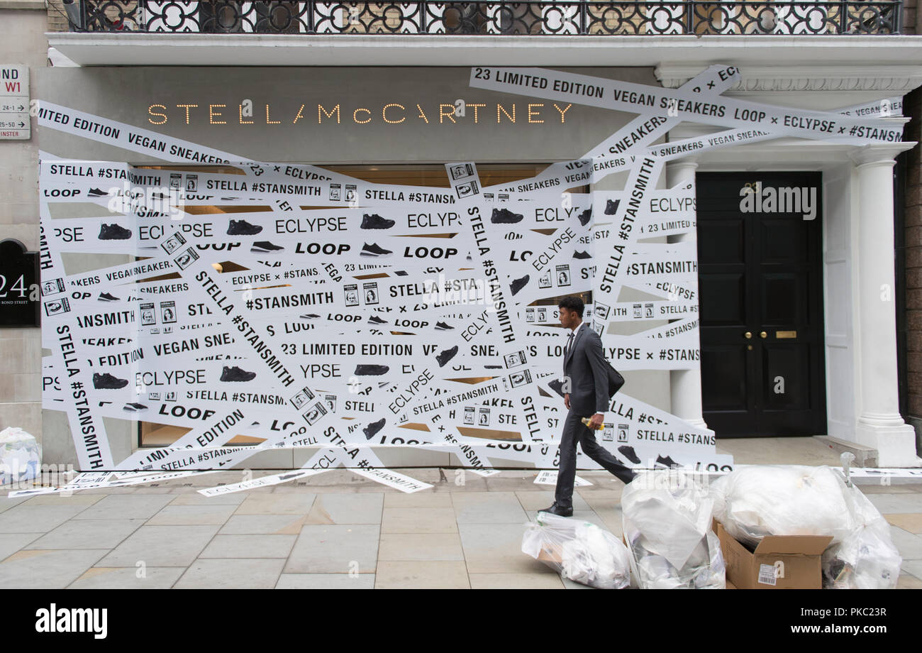
<path fill-rule="evenodd" d="M 833 544 L 841 542 L 857 524 L 846 490 L 826 466 L 758 465 L 734 469 L 710 493 L 727 533 L 754 549 L 766 535 L 831 535 Z"/>

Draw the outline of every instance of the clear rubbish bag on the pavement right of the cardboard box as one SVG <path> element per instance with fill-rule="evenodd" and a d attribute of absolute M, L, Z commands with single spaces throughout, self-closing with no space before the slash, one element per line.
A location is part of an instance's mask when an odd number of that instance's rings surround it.
<path fill-rule="evenodd" d="M 822 554 L 825 589 L 895 589 L 903 558 L 890 524 L 857 487 L 846 488 L 855 528 Z"/>

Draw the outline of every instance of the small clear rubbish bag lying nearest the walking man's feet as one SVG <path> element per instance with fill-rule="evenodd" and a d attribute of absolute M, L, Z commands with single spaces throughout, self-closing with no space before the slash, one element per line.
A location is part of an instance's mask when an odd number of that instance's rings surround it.
<path fill-rule="evenodd" d="M 631 582 L 624 544 L 587 521 L 538 513 L 526 526 L 522 552 L 564 578 L 593 588 L 621 589 Z"/>

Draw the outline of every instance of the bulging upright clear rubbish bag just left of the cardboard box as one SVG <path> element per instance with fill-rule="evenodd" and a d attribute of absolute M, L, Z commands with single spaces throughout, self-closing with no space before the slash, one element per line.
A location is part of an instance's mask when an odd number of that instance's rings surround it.
<path fill-rule="evenodd" d="M 726 588 L 720 541 L 711 531 L 713 501 L 680 469 L 642 471 L 621 493 L 632 572 L 644 589 Z"/>

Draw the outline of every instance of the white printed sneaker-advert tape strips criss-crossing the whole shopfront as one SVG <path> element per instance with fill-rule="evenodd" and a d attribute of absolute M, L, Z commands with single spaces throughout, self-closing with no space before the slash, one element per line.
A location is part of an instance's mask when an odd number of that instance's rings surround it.
<path fill-rule="evenodd" d="M 43 406 L 67 413 L 80 469 L 145 474 L 50 491 L 229 469 L 283 447 L 317 452 L 302 469 L 201 492 L 337 466 L 404 492 L 428 487 L 384 469 L 374 447 L 452 453 L 484 475 L 555 467 L 562 295 L 588 300 L 585 319 L 617 368 L 699 367 L 694 187 L 660 187 L 668 160 L 779 137 L 902 138 L 889 118 L 900 99 L 817 112 L 723 97 L 740 75 L 715 65 L 660 89 L 474 67 L 472 88 L 550 101 L 561 115 L 573 104 L 636 115 L 580 159 L 487 187 L 473 161 L 445 163 L 447 188 L 372 184 L 40 101 L 42 128 L 188 166 L 41 154 Z M 661 142 L 683 121 L 719 130 Z M 616 172 L 627 173 L 621 190 L 594 188 Z M 77 255 L 98 265 L 73 267 Z M 619 335 L 624 322 L 640 330 Z M 118 460 L 104 419 L 186 431 Z M 258 444 L 232 444 L 241 435 Z M 636 468 L 733 465 L 713 432 L 632 398 L 630 383 L 598 439 Z M 579 464 L 597 469 L 582 454 Z"/>

